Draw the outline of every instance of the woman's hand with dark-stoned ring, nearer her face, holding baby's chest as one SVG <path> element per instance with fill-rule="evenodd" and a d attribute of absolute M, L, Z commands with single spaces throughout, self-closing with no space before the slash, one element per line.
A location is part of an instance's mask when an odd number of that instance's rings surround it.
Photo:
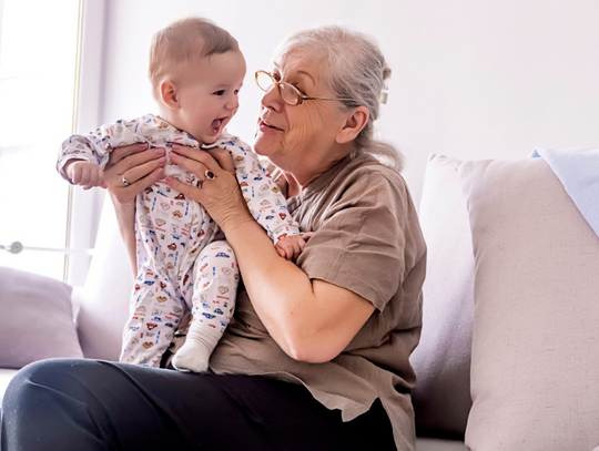
<path fill-rule="evenodd" d="M 242 196 L 229 151 L 211 148 L 199 152 L 197 148 L 173 144 L 171 160 L 195 174 L 200 182 L 199 186 L 192 186 L 169 176 L 169 186 L 202 204 L 225 234 L 234 225 L 254 221 Z"/>

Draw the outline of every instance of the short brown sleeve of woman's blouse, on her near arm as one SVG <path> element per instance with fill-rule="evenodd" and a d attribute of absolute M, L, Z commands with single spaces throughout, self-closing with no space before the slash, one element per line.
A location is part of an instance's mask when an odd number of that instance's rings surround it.
<path fill-rule="evenodd" d="M 327 205 L 297 265 L 311 279 L 348 289 L 383 310 L 405 270 L 408 192 L 383 170 L 357 170 Z"/>

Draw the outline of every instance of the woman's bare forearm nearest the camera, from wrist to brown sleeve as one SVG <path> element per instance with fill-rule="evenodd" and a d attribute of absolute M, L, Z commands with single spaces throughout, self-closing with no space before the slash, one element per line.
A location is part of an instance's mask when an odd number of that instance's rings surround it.
<path fill-rule="evenodd" d="M 290 357 L 311 362 L 333 359 L 374 311 L 367 300 L 326 281 L 313 281 L 280 257 L 255 221 L 225 233 L 256 314 Z"/>

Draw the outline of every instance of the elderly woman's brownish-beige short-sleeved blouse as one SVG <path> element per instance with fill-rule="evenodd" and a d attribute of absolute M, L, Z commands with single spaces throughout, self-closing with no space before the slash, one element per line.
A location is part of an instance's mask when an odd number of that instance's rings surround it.
<path fill-rule="evenodd" d="M 335 359 L 306 363 L 271 338 L 242 287 L 211 369 L 303 383 L 344 421 L 380 398 L 397 449 L 413 450 L 416 378 L 408 358 L 420 336 L 426 247 L 405 181 L 372 156 L 347 157 L 290 198 L 288 209 L 303 232 L 315 233 L 297 266 L 376 310 Z"/>

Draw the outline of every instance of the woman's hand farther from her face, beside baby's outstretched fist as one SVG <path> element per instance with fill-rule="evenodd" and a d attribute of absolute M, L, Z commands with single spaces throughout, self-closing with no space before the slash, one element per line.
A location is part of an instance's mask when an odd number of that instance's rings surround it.
<path fill-rule="evenodd" d="M 104 168 L 112 202 L 135 205 L 138 194 L 162 177 L 165 164 L 164 148 L 149 148 L 148 143 L 114 148 Z"/>

